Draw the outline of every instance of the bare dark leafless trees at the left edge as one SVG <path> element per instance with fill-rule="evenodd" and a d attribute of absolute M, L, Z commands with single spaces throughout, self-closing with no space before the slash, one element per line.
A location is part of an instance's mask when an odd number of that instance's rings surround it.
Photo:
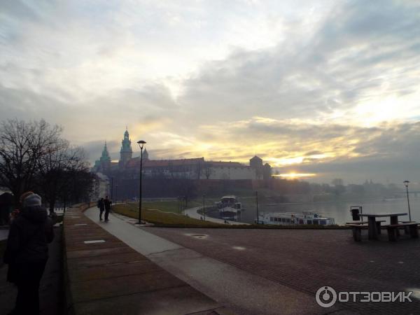
<path fill-rule="evenodd" d="M 13 193 L 15 206 L 25 191 L 43 197 L 50 212 L 57 202 L 89 199 L 94 175 L 83 148 L 62 138 L 62 127 L 45 120 L 0 123 L 0 188 Z"/>

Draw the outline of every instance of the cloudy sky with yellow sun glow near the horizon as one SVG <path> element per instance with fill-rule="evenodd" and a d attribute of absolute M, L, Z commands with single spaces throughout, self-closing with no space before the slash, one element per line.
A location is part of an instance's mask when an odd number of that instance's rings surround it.
<path fill-rule="evenodd" d="M 0 1 L 0 118 L 118 160 L 420 181 L 420 2 Z M 133 145 L 134 155 L 139 149 Z"/>

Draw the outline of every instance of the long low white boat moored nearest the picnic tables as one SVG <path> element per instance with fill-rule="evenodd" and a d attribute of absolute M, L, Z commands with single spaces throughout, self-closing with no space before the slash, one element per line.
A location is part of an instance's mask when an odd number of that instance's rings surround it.
<path fill-rule="evenodd" d="M 294 212 L 271 212 L 269 214 L 260 214 L 258 223 L 272 225 L 335 225 L 334 218 L 320 216 L 316 212 L 302 211 L 302 214 Z"/>

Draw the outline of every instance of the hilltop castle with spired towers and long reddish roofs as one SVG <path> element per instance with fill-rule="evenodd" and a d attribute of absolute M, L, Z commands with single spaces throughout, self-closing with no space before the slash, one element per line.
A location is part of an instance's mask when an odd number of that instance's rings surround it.
<path fill-rule="evenodd" d="M 133 158 L 132 141 L 126 129 L 121 141 L 120 160 L 112 162 L 106 143 L 102 156 L 92 167 L 92 172 L 133 177 L 139 173 L 140 157 Z M 272 168 L 254 156 L 249 165 L 239 162 L 206 161 L 204 158 L 179 160 L 151 160 L 146 148 L 143 152 L 143 176 L 145 178 L 168 179 L 216 179 L 216 180 L 262 180 L 272 176 Z"/>

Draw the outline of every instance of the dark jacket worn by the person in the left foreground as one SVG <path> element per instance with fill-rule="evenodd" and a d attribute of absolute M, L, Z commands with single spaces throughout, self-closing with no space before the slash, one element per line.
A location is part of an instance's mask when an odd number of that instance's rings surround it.
<path fill-rule="evenodd" d="M 54 239 L 52 221 L 42 207 L 20 211 L 10 227 L 4 262 L 25 263 L 48 259 L 48 243 Z"/>

